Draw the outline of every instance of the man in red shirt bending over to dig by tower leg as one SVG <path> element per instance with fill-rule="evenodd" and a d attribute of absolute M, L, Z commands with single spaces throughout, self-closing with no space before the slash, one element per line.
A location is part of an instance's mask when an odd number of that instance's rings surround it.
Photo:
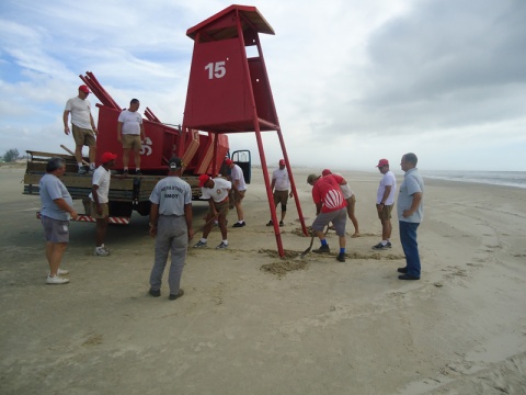
<path fill-rule="evenodd" d="M 312 232 L 318 236 L 321 247 L 313 252 L 330 252 L 323 229 L 332 222 L 336 229 L 340 242 L 340 253 L 336 259 L 345 262 L 345 224 L 347 222 L 347 203 L 343 198 L 340 182 L 343 178 L 338 174 L 321 177 L 310 174 L 307 183 L 312 185 L 312 200 L 316 204 L 316 219 L 312 223 Z"/>

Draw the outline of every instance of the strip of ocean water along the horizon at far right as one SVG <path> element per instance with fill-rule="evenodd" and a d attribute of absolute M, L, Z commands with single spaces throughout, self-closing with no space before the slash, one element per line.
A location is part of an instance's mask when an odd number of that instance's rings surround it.
<path fill-rule="evenodd" d="M 526 171 L 434 171 L 420 170 L 424 178 L 477 182 L 492 185 L 505 185 L 526 189 Z"/>

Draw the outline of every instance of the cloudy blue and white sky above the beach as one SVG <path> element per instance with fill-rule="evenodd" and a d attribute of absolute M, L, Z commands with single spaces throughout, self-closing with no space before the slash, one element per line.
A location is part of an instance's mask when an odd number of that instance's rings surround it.
<path fill-rule="evenodd" d="M 194 42 L 220 0 L 2 0 L 0 155 L 61 153 L 66 101 L 92 71 L 123 108 L 181 124 Z M 526 1 L 260 0 L 260 34 L 290 165 L 526 171 Z M 90 95 L 95 122 L 98 100 Z M 254 133 L 229 135 L 250 149 Z M 263 133 L 268 166 L 283 157 Z M 85 153 L 87 150 L 84 150 Z"/>

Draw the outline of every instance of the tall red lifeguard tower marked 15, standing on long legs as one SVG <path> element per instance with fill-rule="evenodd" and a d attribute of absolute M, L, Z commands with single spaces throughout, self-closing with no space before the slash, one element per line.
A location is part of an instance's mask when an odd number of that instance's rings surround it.
<path fill-rule="evenodd" d="M 255 7 L 248 5 L 230 5 L 186 31 L 186 35 L 194 40 L 194 53 L 183 128 L 217 135 L 255 132 L 277 249 L 283 257 L 285 252 L 261 132 L 277 132 L 306 236 L 307 228 L 266 75 L 259 33 L 274 34 L 274 30 Z M 258 55 L 249 58 L 247 47 L 255 47 Z M 217 163 L 218 140 L 219 138 L 214 139 L 213 163 Z M 216 168 L 213 168 L 213 173 L 217 173 Z"/>

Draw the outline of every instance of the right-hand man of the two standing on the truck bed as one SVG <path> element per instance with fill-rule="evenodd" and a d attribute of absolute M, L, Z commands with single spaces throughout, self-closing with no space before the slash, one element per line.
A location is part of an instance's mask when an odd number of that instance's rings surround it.
<path fill-rule="evenodd" d="M 134 151 L 135 173 L 140 174 L 140 145 L 146 139 L 142 116 L 137 112 L 140 102 L 132 99 L 129 109 L 118 115 L 117 140 L 123 143 L 123 174 L 128 173 L 129 151 Z"/>

